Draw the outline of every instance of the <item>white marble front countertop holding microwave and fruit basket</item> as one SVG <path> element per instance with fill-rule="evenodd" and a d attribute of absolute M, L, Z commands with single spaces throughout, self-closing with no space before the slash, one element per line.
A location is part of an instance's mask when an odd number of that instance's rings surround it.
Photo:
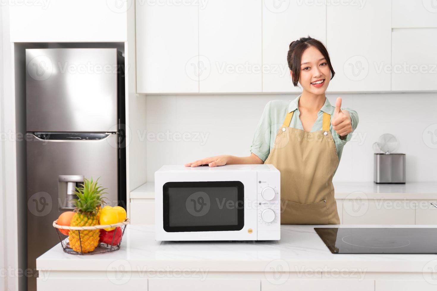
<path fill-rule="evenodd" d="M 278 241 L 160 242 L 153 225 L 129 225 L 121 249 L 96 255 L 64 253 L 58 244 L 38 257 L 38 270 L 106 271 L 114 262 L 131 270 L 207 268 L 210 271 L 265 271 L 275 260 L 300 268 L 361 268 L 367 272 L 422 272 L 430 254 L 333 254 L 314 227 L 336 225 L 282 225 Z M 339 227 L 435 227 L 427 225 L 340 225 Z"/>

